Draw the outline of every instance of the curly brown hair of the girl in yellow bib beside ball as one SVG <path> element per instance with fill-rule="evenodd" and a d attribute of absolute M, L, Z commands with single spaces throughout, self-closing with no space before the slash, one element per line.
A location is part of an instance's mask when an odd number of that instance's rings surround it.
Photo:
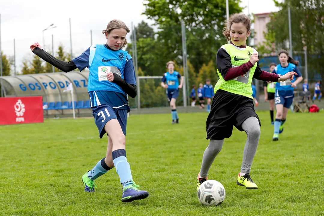
<path fill-rule="evenodd" d="M 233 23 L 242 23 L 248 30 L 251 29 L 251 20 L 245 14 L 232 14 L 229 17 L 229 20 L 225 20 L 225 27 L 223 28 L 223 35 L 226 37 L 226 40 L 231 41 L 231 26 Z"/>

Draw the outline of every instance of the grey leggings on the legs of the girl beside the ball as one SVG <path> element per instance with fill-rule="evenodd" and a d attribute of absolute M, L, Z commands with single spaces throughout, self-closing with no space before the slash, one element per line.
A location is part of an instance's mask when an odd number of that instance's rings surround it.
<path fill-rule="evenodd" d="M 243 161 L 241 166 L 242 173 L 250 173 L 254 155 L 258 148 L 260 139 L 260 125 L 259 120 L 251 116 L 247 118 L 241 125 L 247 134 L 247 141 L 245 143 L 243 152 Z M 223 140 L 210 140 L 208 147 L 203 153 L 203 162 L 200 169 L 200 177 L 207 177 L 210 166 L 213 164 L 216 155 L 223 147 Z"/>

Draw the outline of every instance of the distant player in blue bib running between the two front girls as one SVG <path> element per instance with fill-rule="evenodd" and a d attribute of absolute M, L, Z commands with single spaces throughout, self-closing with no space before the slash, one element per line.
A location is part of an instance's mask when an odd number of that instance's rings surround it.
<path fill-rule="evenodd" d="M 176 108 L 176 101 L 179 95 L 179 89 L 182 88 L 183 77 L 176 71 L 174 71 L 174 62 L 167 62 L 168 72 L 163 74 L 161 79 L 161 86 L 167 89 L 167 97 L 170 102 L 172 124 L 179 124 L 179 117 Z M 180 85 L 179 85 L 180 79 Z"/>

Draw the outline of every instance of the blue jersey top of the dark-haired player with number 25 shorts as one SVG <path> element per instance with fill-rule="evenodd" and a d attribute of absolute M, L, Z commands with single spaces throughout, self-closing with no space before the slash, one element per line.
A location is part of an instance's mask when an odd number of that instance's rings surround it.
<path fill-rule="evenodd" d="M 294 71 L 296 72 L 297 75 L 294 76 L 293 80 L 287 79 L 285 81 L 280 81 L 277 82 L 276 84 L 276 92 L 283 92 L 286 94 L 293 94 L 294 93 L 294 88 L 291 87 L 291 83 L 295 82 L 295 80 L 297 79 L 297 77 L 302 76 L 302 74 L 300 73 L 300 71 L 298 70 L 298 68 L 296 67 L 295 64 L 293 63 L 288 63 L 287 67 L 282 67 L 281 64 L 278 64 L 272 73 L 275 74 L 279 74 L 279 75 L 284 75 L 290 71 Z"/>

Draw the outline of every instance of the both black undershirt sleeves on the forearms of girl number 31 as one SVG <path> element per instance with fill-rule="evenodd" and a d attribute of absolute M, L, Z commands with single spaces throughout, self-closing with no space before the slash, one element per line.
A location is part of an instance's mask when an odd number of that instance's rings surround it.
<path fill-rule="evenodd" d="M 44 50 L 41 50 L 39 47 L 36 47 L 33 51 L 37 56 L 39 56 L 44 61 L 52 64 L 54 67 L 64 71 L 65 73 L 75 70 L 77 67 L 73 61 L 64 62 L 47 53 Z M 121 89 L 130 97 L 134 98 L 137 95 L 136 85 L 128 84 L 123 78 L 118 74 L 114 73 L 113 83 L 116 83 L 121 87 Z"/>

